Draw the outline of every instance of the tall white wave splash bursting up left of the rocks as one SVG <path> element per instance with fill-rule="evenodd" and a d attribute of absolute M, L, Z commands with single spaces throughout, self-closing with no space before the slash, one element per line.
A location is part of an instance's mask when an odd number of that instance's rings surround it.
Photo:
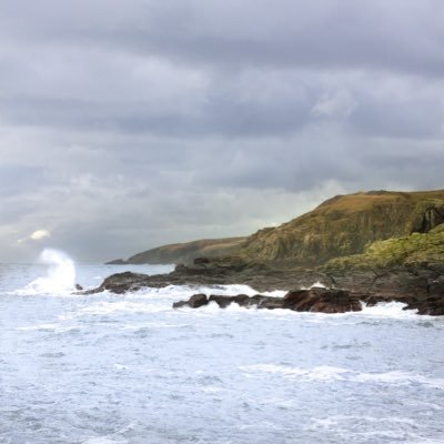
<path fill-rule="evenodd" d="M 58 250 L 44 249 L 40 262 L 49 265 L 47 275 L 29 283 L 24 291 L 38 293 L 65 293 L 75 287 L 75 266 L 71 258 Z"/>

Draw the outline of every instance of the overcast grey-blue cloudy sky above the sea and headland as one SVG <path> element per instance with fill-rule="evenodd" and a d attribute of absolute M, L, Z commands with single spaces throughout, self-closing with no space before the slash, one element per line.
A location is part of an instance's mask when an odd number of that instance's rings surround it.
<path fill-rule="evenodd" d="M 1 0 L 0 261 L 444 188 L 442 0 Z"/>

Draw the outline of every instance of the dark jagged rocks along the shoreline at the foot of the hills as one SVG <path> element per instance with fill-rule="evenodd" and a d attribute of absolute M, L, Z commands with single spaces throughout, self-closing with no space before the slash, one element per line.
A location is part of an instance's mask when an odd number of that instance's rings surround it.
<path fill-rule="evenodd" d="M 313 287 L 311 287 L 316 283 Z M 196 259 L 193 265 L 178 265 L 169 274 L 147 275 L 132 272 L 107 278 L 91 294 L 102 291 L 127 293 L 143 287 L 168 285 L 245 284 L 256 290 L 255 296 L 193 295 L 174 307 L 198 307 L 210 302 L 225 307 L 231 303 L 258 309 L 287 309 L 323 313 L 360 311 L 362 305 L 379 302 L 402 302 L 418 314 L 444 315 L 444 265 L 411 264 L 380 270 L 323 270 L 289 268 L 283 264 L 244 263 L 238 259 Z M 317 286 L 316 286 L 317 285 Z M 311 287 L 311 289 L 310 289 Z M 309 289 L 309 290 L 304 290 Z M 284 297 L 260 294 L 273 290 L 287 291 Z M 199 296 L 199 297 L 198 297 Z M 198 301 L 198 302 L 196 302 Z"/>

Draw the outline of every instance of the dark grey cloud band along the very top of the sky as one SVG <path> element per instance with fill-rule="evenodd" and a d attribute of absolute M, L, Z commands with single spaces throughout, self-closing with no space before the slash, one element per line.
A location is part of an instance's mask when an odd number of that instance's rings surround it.
<path fill-rule="evenodd" d="M 185 63 L 443 73 L 438 0 L 4 1 L 7 34 L 104 46 Z M 29 13 L 23 17 L 22 11 Z"/>

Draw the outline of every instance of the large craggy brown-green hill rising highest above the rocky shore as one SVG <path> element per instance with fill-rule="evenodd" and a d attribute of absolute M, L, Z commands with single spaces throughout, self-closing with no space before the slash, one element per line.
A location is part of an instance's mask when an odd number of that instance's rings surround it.
<path fill-rule="evenodd" d="M 444 190 L 372 191 L 332 198 L 315 210 L 246 239 L 246 261 L 319 265 L 362 253 L 375 241 L 427 233 L 444 223 Z"/>

